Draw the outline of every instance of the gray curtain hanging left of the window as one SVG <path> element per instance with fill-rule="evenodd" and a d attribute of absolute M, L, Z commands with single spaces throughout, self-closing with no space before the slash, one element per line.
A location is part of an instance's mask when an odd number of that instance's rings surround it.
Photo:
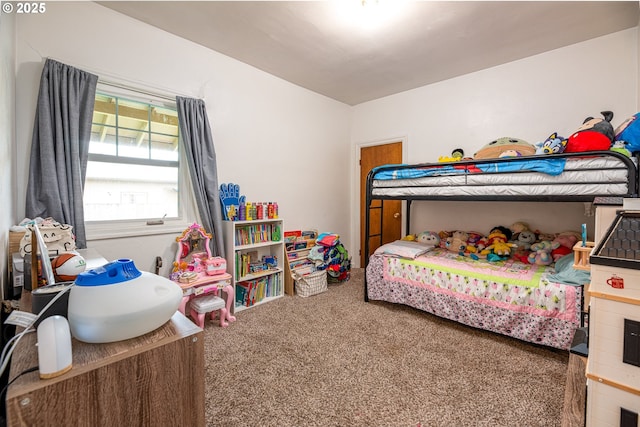
<path fill-rule="evenodd" d="M 47 59 L 40 78 L 26 216 L 73 226 L 76 246 L 87 247 L 82 194 L 98 76 Z"/>

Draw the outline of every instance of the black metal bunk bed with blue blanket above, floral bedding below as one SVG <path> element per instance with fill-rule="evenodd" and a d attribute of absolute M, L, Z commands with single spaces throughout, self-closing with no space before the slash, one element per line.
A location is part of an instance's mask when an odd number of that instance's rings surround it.
<path fill-rule="evenodd" d="M 490 263 L 442 248 L 411 254 L 395 251 L 395 242 L 383 244 L 384 203 L 374 206 L 373 201 L 404 201 L 405 235 L 409 235 L 411 205 L 420 200 L 635 198 L 637 164 L 637 157 L 593 151 L 374 168 L 366 182 L 365 301 L 409 305 L 472 327 L 568 349 L 582 322 L 582 285 L 554 281 L 552 266 L 514 259 Z M 380 225 L 374 230 L 376 210 Z M 371 253 L 370 245 L 376 242 L 380 247 Z"/>

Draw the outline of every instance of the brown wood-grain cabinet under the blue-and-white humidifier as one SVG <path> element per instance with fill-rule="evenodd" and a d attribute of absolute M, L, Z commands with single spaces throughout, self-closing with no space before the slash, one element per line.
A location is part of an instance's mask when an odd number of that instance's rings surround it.
<path fill-rule="evenodd" d="M 36 334 L 13 353 L 10 378 L 38 366 Z M 7 391 L 7 425 L 204 426 L 204 338 L 181 313 L 129 340 L 72 341 L 73 368 L 41 380 L 20 376 Z"/>

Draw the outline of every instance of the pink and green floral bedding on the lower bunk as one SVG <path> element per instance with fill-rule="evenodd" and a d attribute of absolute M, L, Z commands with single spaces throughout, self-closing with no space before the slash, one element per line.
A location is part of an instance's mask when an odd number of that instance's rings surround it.
<path fill-rule="evenodd" d="M 553 267 L 473 260 L 442 248 L 415 259 L 373 255 L 368 297 L 476 328 L 568 349 L 580 327 L 582 287 L 548 279 Z"/>

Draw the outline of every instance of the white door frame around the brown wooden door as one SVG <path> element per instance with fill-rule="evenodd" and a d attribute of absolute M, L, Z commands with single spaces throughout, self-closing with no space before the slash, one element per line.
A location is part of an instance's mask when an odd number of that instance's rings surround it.
<path fill-rule="evenodd" d="M 372 147 L 376 145 L 391 144 L 392 142 L 402 142 L 402 162 L 407 161 L 408 152 L 408 140 L 405 136 L 396 136 L 393 138 L 384 138 L 370 141 L 356 142 L 353 145 L 352 156 L 352 168 L 351 168 L 351 246 L 353 254 L 351 255 L 351 263 L 353 267 L 364 267 L 360 265 L 360 251 L 363 249 L 360 247 L 360 150 L 364 147 Z M 402 204 L 402 230 L 406 229 L 406 206 Z"/>

